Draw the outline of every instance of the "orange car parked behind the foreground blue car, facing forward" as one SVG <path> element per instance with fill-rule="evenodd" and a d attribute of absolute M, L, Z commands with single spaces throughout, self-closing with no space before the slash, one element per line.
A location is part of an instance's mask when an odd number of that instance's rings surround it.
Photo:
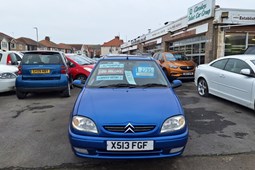
<path fill-rule="evenodd" d="M 194 79 L 196 63 L 178 52 L 157 52 L 153 55 L 170 80 Z"/>

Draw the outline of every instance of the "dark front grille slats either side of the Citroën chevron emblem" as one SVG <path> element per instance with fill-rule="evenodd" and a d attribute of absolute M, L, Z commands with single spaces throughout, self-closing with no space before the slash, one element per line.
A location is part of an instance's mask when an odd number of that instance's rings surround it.
<path fill-rule="evenodd" d="M 126 126 L 104 126 L 105 130 L 109 132 L 118 132 L 118 133 L 124 133 L 126 131 L 125 129 Z M 135 133 L 139 132 L 148 132 L 151 131 L 155 128 L 155 126 L 150 125 L 150 126 L 133 126 L 133 131 Z"/>

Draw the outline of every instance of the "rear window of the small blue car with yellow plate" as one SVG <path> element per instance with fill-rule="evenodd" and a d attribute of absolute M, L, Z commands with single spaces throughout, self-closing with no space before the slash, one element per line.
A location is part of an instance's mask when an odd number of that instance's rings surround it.
<path fill-rule="evenodd" d="M 21 64 L 63 64 L 61 55 L 58 53 L 25 53 Z"/>

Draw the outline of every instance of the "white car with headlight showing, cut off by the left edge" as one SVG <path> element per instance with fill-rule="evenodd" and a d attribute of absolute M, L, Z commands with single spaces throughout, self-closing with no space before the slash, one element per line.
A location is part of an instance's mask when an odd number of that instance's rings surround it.
<path fill-rule="evenodd" d="M 0 93 L 15 90 L 18 68 L 0 64 Z"/>

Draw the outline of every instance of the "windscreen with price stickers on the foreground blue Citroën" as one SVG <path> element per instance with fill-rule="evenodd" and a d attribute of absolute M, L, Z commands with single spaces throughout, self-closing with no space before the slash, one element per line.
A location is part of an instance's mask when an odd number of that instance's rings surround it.
<path fill-rule="evenodd" d="M 86 87 L 168 87 L 153 60 L 100 60 Z"/>

